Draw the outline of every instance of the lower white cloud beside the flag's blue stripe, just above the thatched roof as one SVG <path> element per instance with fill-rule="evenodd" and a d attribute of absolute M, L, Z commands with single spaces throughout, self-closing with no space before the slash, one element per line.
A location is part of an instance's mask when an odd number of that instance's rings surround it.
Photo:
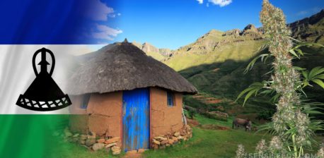
<path fill-rule="evenodd" d="M 113 40 L 118 34 L 122 33 L 122 30 L 110 28 L 107 25 L 96 25 L 96 32 L 92 32 L 92 37 L 96 39 Z"/>

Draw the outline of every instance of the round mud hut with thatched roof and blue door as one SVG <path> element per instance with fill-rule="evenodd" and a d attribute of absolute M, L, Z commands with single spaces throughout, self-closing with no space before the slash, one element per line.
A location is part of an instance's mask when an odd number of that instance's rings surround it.
<path fill-rule="evenodd" d="M 125 39 L 126 40 L 126 39 Z M 132 43 L 116 42 L 82 57 L 71 76 L 70 129 L 120 138 L 123 150 L 183 128 L 183 94 L 196 88 Z"/>

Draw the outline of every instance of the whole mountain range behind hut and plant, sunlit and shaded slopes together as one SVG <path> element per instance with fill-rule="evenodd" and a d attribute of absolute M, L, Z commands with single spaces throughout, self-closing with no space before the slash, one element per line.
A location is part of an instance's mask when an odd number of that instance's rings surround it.
<path fill-rule="evenodd" d="M 288 24 L 291 35 L 307 42 L 324 44 L 324 11 L 303 20 Z M 233 29 L 226 32 L 211 30 L 195 42 L 175 50 L 163 62 L 179 71 L 195 85 L 199 92 L 225 97 L 236 97 L 241 90 L 251 83 L 267 80 L 264 75 L 270 71 L 270 63 L 255 63 L 252 71 L 243 74 L 249 61 L 267 50 L 260 49 L 265 44 L 262 28 L 247 25 L 243 30 Z M 294 65 L 303 68 L 324 67 L 324 49 L 303 47 L 311 54 L 301 60 L 294 60 Z M 320 99 L 323 90 L 315 86 L 308 90 L 309 97 Z M 324 99 L 324 98 L 323 98 Z M 324 101 L 321 99 L 321 101 Z"/>

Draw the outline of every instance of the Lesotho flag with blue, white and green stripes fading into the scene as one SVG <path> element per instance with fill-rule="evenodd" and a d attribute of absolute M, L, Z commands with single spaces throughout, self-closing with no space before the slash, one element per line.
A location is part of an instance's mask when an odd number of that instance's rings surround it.
<path fill-rule="evenodd" d="M 60 144 L 53 136 L 68 125 L 68 107 L 34 111 L 16 103 L 36 75 L 45 71 L 66 92 L 75 56 L 95 51 L 98 47 L 91 44 L 112 42 L 122 33 L 117 10 L 113 1 L 0 1 L 0 157 L 78 157 L 73 147 Z M 32 63 L 37 50 L 39 56 Z M 42 53 L 45 50 L 53 52 L 55 63 L 48 52 Z M 44 88 L 38 87 L 33 94 Z"/>

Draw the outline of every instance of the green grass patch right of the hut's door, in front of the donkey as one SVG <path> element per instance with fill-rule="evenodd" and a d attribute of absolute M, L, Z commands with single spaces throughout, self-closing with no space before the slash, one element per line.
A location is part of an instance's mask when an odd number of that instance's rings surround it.
<path fill-rule="evenodd" d="M 144 157 L 235 157 L 238 144 L 247 152 L 254 152 L 255 145 L 269 136 L 242 130 L 204 130 L 193 128 L 192 139 L 165 150 L 149 150 Z"/>

